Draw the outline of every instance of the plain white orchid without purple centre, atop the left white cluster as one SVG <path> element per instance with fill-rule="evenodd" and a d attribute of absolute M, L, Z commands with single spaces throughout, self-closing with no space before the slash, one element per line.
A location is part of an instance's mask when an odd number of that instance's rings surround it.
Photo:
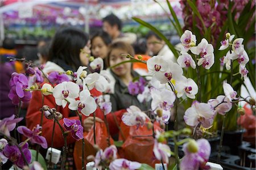
<path fill-rule="evenodd" d="M 84 81 L 89 90 L 95 87 L 99 92 L 105 92 L 108 87 L 108 81 L 99 73 L 89 74 Z"/>

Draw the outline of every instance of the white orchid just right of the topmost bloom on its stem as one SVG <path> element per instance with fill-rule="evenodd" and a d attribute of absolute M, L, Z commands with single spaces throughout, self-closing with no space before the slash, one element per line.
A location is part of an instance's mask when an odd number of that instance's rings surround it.
<path fill-rule="evenodd" d="M 206 57 L 213 54 L 213 45 L 208 44 L 206 39 L 202 39 L 197 47 L 191 47 L 191 52 L 195 55 L 200 55 L 200 57 Z"/>

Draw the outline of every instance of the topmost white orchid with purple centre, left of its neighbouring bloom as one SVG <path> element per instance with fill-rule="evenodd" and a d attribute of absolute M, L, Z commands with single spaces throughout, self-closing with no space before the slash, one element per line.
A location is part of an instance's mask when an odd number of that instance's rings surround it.
<path fill-rule="evenodd" d="M 187 52 L 192 44 L 196 44 L 196 36 L 189 30 L 185 30 L 184 34 L 180 37 L 180 42 L 183 48 L 181 51 Z"/>

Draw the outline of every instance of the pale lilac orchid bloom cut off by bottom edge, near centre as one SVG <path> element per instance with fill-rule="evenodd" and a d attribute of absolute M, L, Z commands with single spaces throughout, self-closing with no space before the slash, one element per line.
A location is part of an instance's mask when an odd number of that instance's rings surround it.
<path fill-rule="evenodd" d="M 141 163 L 138 163 L 137 161 L 129 161 L 127 159 L 115 159 L 112 163 L 109 165 L 110 170 L 134 170 L 141 167 Z"/>

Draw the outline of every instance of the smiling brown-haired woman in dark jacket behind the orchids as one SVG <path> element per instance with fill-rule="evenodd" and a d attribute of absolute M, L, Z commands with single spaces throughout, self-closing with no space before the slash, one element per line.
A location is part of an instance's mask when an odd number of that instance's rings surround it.
<path fill-rule="evenodd" d="M 110 45 L 108 57 L 106 58 L 106 64 L 108 67 L 112 67 L 122 61 L 130 60 L 123 55 L 134 56 L 134 49 L 130 44 L 124 42 L 115 42 Z M 139 107 L 141 110 L 149 109 L 144 103 L 138 101 L 137 96 L 131 95 L 127 86 L 133 78 L 139 77 L 139 74 L 133 70 L 133 64 L 130 62 L 118 65 L 111 68 L 110 73 L 114 77 L 114 93 L 110 94 L 110 100 L 112 102 L 112 111 L 121 109 L 127 109 L 131 105 Z"/>

